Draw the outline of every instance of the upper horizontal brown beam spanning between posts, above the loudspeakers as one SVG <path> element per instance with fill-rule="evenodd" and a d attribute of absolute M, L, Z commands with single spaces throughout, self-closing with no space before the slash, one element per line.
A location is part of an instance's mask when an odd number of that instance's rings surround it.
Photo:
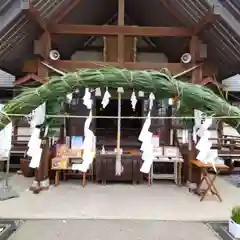
<path fill-rule="evenodd" d="M 193 35 L 192 29 L 180 27 L 138 27 L 138 26 L 113 26 L 113 25 L 74 25 L 50 24 L 53 34 L 80 34 L 95 36 L 147 36 L 147 37 L 189 37 Z"/>

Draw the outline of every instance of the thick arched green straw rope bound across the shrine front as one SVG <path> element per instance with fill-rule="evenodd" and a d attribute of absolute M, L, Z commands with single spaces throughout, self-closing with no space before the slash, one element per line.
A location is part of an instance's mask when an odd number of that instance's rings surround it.
<path fill-rule="evenodd" d="M 40 87 L 26 89 L 4 106 L 0 113 L 0 128 L 4 128 L 16 118 L 17 115 L 14 117 L 14 114 L 28 115 L 45 101 L 57 100 L 81 87 L 123 87 L 153 92 L 156 100 L 178 97 L 179 114 L 191 116 L 193 109 L 199 109 L 208 116 L 220 117 L 240 132 L 240 109 L 230 105 L 209 88 L 177 80 L 166 69 L 160 72 L 130 71 L 111 67 L 81 69 L 63 76 L 51 77 Z"/>

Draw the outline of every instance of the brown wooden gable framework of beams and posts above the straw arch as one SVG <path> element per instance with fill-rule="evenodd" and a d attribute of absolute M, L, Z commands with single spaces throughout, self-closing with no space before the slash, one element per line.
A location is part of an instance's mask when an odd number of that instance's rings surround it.
<path fill-rule="evenodd" d="M 22 71 L 26 76 L 18 79 L 15 85 L 25 84 L 29 80 L 35 80 L 42 84 L 46 81 L 49 75 L 52 74 L 51 70 L 44 66 L 41 62 L 47 62 L 49 65 L 59 69 L 61 71 L 76 71 L 80 68 L 99 68 L 103 66 L 115 66 L 128 69 L 155 69 L 168 68 L 173 74 L 184 72 L 185 70 L 199 65 L 198 68 L 190 71 L 187 74 L 189 81 L 198 84 L 214 83 L 212 76 L 217 74 L 217 67 L 214 62 L 210 62 L 205 56 L 202 57 L 201 48 L 203 42 L 201 41 L 201 34 L 206 29 L 218 20 L 218 14 L 214 11 L 208 11 L 206 15 L 191 28 L 186 27 L 146 27 L 146 26 L 134 26 L 126 22 L 126 7 L 125 0 L 118 0 L 118 12 L 116 14 L 116 22 L 111 23 L 111 20 L 106 25 L 76 25 L 68 24 L 63 20 L 71 14 L 72 10 L 77 7 L 80 0 L 73 0 L 64 10 L 59 12 L 54 20 L 47 21 L 41 17 L 40 12 L 33 6 L 31 1 L 25 4 L 25 13 L 30 17 L 32 21 L 38 26 L 41 31 L 41 36 L 35 39 L 32 51 L 35 54 L 35 59 L 25 59 Z M 173 14 L 168 5 L 165 5 L 166 10 L 170 14 Z M 112 21 L 113 22 L 113 21 Z M 98 48 L 102 57 L 98 60 L 95 59 L 73 59 L 65 56 L 61 56 L 61 49 L 58 49 L 58 41 L 64 37 L 74 36 L 88 36 L 89 39 L 98 37 L 101 39 L 102 44 Z M 144 57 L 143 61 L 139 61 L 139 55 L 144 47 L 141 47 L 139 42 L 141 39 L 149 40 L 150 38 L 184 38 L 185 44 L 182 46 L 182 53 L 189 52 L 191 54 L 191 62 L 188 64 L 181 63 L 181 55 L 179 55 L 178 61 L 171 62 L 171 59 L 152 59 L 153 55 Z M 85 44 L 85 48 L 80 54 L 86 54 L 93 45 L 88 44 L 88 40 Z M 151 43 L 151 41 L 146 41 Z M 172 46 L 174 48 L 174 46 Z M 149 48 L 147 52 L 149 52 Z M 57 49 L 60 53 L 60 59 L 52 60 L 49 57 L 51 50 Z M 77 51 L 77 49 L 76 49 Z M 158 55 L 157 49 L 155 56 Z M 160 55 L 161 53 L 159 53 Z M 86 60 L 87 59 L 87 60 Z M 56 73 L 55 73 L 56 74 Z M 167 115 L 172 114 L 172 108 L 167 109 Z M 164 122 L 166 136 L 169 136 L 170 129 L 173 127 L 172 121 L 166 119 Z M 176 126 L 181 127 L 181 126 Z M 169 142 L 169 139 L 166 140 Z"/>

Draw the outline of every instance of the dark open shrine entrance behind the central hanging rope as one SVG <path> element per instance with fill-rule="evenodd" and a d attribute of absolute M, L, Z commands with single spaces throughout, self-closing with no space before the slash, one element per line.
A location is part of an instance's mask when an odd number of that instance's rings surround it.
<path fill-rule="evenodd" d="M 101 99 L 97 99 L 95 104 L 97 145 L 112 148 L 114 144 L 116 146 L 117 139 L 118 100 L 111 99 L 106 108 L 102 107 L 101 101 Z M 135 110 L 133 110 L 130 99 L 121 100 L 121 145 L 133 148 L 140 146 L 137 138 L 144 122 L 144 119 L 141 118 L 143 116 L 142 102 L 142 100 L 138 100 Z"/>

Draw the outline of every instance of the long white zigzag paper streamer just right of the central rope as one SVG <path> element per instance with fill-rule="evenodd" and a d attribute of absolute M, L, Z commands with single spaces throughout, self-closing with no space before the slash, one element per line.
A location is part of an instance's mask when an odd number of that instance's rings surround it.
<path fill-rule="evenodd" d="M 153 100 L 155 99 L 155 96 L 153 93 L 149 95 L 149 113 L 147 116 L 147 119 L 145 120 L 145 123 L 142 127 L 141 133 L 138 137 L 138 140 L 142 142 L 141 145 L 141 151 L 142 151 L 142 160 L 143 165 L 140 169 L 141 172 L 143 173 L 149 173 L 152 163 L 153 163 L 153 144 L 152 144 L 152 136 L 153 133 L 149 131 L 149 128 L 151 126 L 151 117 L 150 117 L 150 112 L 153 107 Z"/>

